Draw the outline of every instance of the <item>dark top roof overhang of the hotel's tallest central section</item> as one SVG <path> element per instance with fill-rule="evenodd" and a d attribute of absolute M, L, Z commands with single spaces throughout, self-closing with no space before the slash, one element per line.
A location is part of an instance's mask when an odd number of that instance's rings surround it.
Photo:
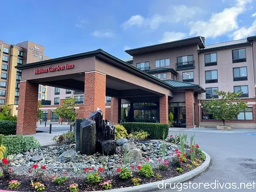
<path fill-rule="evenodd" d="M 205 47 L 203 38 L 204 37 L 201 37 L 201 36 L 191 37 L 191 38 L 186 38 L 186 39 L 181 39 L 181 40 L 176 40 L 171 42 L 164 42 L 163 44 L 140 47 L 136 49 L 129 49 L 129 50 L 125 50 L 125 52 L 133 56 L 140 53 L 158 51 L 162 49 L 170 49 L 170 48 L 193 45 L 193 44 L 197 44 L 199 48 L 202 49 Z"/>

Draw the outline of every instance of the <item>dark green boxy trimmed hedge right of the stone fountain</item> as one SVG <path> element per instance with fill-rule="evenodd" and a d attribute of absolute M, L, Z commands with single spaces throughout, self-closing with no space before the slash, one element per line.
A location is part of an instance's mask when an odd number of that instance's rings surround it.
<path fill-rule="evenodd" d="M 164 139 L 167 138 L 169 132 L 169 126 L 165 123 L 140 123 L 140 122 L 127 122 L 122 123 L 124 128 L 127 130 L 127 133 L 138 132 L 138 131 L 145 131 L 150 136 L 148 138 L 151 139 Z"/>

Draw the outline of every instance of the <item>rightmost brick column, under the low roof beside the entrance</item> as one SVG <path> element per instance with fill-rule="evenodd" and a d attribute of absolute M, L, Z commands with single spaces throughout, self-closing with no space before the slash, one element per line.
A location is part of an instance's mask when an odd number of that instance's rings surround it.
<path fill-rule="evenodd" d="M 186 102 L 186 127 L 194 127 L 194 103 L 193 103 L 193 91 L 185 91 L 185 102 Z"/>

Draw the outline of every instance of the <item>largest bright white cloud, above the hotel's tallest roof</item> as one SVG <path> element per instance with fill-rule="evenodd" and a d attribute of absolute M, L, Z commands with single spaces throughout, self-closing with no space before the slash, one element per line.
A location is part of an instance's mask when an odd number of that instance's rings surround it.
<path fill-rule="evenodd" d="M 199 20 L 189 22 L 189 35 L 202 35 L 205 37 L 218 37 L 227 32 L 238 29 L 238 16 L 246 10 L 246 5 L 252 0 L 237 0 L 236 5 L 224 9 L 222 12 L 211 15 L 207 22 Z"/>

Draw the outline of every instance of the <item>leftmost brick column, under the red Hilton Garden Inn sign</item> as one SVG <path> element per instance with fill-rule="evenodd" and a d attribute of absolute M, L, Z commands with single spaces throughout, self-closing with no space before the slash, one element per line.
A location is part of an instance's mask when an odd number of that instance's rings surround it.
<path fill-rule="evenodd" d="M 37 97 L 37 83 L 20 81 L 16 134 L 35 134 L 38 103 Z"/>

